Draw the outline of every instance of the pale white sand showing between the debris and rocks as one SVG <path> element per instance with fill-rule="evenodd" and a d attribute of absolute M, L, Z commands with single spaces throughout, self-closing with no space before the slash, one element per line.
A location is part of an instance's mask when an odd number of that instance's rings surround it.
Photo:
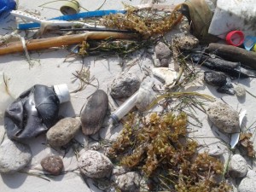
<path fill-rule="evenodd" d="M 20 0 L 20 7 L 26 9 L 37 9 L 41 12 L 41 15 L 46 18 L 51 18 L 54 16 L 61 15 L 59 10 L 55 9 L 41 9 L 38 6 L 49 1 L 38 0 L 38 1 L 28 1 Z M 82 6 L 88 10 L 97 9 L 102 3 L 101 1 L 95 1 L 91 3 L 90 1 L 80 1 Z M 106 3 L 102 6 L 102 9 L 123 9 L 123 3 L 128 3 L 132 5 L 139 4 L 140 0 L 107 0 Z M 176 4 L 183 1 L 166 1 L 166 4 Z M 59 8 L 63 2 L 51 3 L 47 7 Z M 3 28 L 8 26 L 15 26 L 15 21 L 11 20 L 13 18 L 7 18 L 6 20 L 0 20 L 0 34 L 9 32 Z M 9 22 L 6 22 L 6 21 Z M 82 61 L 79 58 L 69 58 L 64 62 L 66 56 L 68 55 L 66 49 L 54 49 L 54 50 L 45 50 L 38 53 L 31 54 L 32 59 L 38 60 L 39 63 L 36 63 L 34 67 L 29 67 L 28 62 L 25 59 L 23 54 L 15 55 L 4 55 L 0 58 L 0 71 L 3 71 L 10 78 L 9 81 L 9 90 L 14 96 L 19 96 L 21 92 L 30 88 L 33 84 L 67 84 L 69 90 L 75 90 L 79 81 L 73 79 L 73 73 L 80 70 L 82 66 Z M 148 65 L 147 58 L 142 57 L 139 63 L 141 65 Z M 122 71 L 122 68 L 119 65 L 119 58 L 110 56 L 108 59 L 95 59 L 94 57 L 87 57 L 84 59 L 84 65 L 90 67 L 90 75 L 95 76 L 99 81 L 99 88 L 108 92 L 109 85 L 112 83 L 115 76 Z M 135 69 L 134 69 L 135 71 Z M 94 82 L 96 83 L 96 82 Z M 252 93 L 255 93 L 256 89 L 256 80 L 255 79 L 245 79 L 241 80 L 239 83 L 243 84 L 246 89 Z M 71 102 L 67 102 L 61 107 L 61 114 L 64 116 L 76 116 L 79 115 L 79 112 L 84 103 L 87 101 L 87 97 L 90 96 L 96 90 L 93 86 L 88 86 L 85 90 L 71 95 Z M 245 127 L 253 125 L 255 119 L 256 109 L 254 107 L 255 98 L 247 94 L 245 99 L 238 100 L 236 96 L 227 96 L 224 94 L 219 94 L 215 89 L 212 89 L 211 86 L 206 86 L 204 84 L 195 85 L 190 87 L 189 90 L 196 90 L 201 93 L 207 93 L 209 95 L 215 96 L 218 99 L 222 98 L 224 102 L 230 104 L 232 108 L 235 108 L 237 111 L 241 109 L 247 110 L 246 119 L 243 121 Z M 221 135 L 218 131 L 212 131 L 211 123 L 209 123 L 205 113 L 198 112 L 196 114 L 203 127 L 194 132 L 193 137 L 198 138 L 199 143 L 207 143 L 209 146 L 219 143 L 219 140 L 214 137 L 218 137 L 218 134 Z M 0 125 L 3 129 L 3 123 Z M 192 129 L 195 129 L 191 127 Z M 214 130 L 214 129 L 213 129 Z M 217 133 L 216 133 L 217 132 Z M 77 138 L 84 142 L 88 142 L 88 138 L 84 137 L 81 133 Z M 225 137 L 226 138 L 226 137 Z M 226 138 L 229 139 L 229 138 Z M 27 143 L 32 148 L 32 163 L 31 168 L 39 168 L 40 160 L 42 160 L 48 154 L 60 154 L 59 152 L 46 147 L 45 137 L 40 136 L 27 141 Z M 220 144 L 220 143 L 219 143 Z M 220 144 L 221 145 L 221 144 Z M 62 153 L 62 152 L 61 152 Z M 254 166 L 254 162 L 249 162 L 250 166 Z M 76 168 L 76 158 L 73 154 L 73 151 L 70 150 L 66 157 L 64 158 L 65 170 L 72 170 Z M 46 192 L 46 191 L 65 191 L 65 192 L 84 192 L 90 191 L 87 187 L 84 180 L 79 177 L 79 172 L 70 172 L 59 177 L 55 177 L 49 181 L 46 181 L 39 177 L 28 176 L 23 173 L 15 173 L 13 175 L 0 175 L 0 191 L 1 192 L 10 192 L 10 191 L 19 191 L 19 192 Z"/>

